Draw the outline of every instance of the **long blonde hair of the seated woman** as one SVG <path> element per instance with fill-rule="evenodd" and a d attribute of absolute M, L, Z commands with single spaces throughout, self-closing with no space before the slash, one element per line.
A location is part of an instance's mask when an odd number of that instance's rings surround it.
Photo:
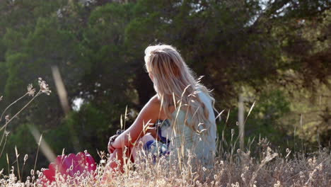
<path fill-rule="evenodd" d="M 208 94 L 214 108 L 214 98 L 210 91 L 194 79 L 192 70 L 180 56 L 180 53 L 171 45 L 153 45 L 145 50 L 144 60 L 146 69 L 153 74 L 154 89 L 161 100 L 161 107 L 167 118 L 172 119 L 170 106 L 185 108 L 192 118 L 185 120 L 185 125 L 195 132 L 205 132 L 210 128 L 209 112 L 197 94 L 202 91 Z M 174 124 L 173 124 L 174 125 Z M 199 128 L 198 128 L 199 127 Z M 201 133 L 204 134 L 204 133 Z"/>

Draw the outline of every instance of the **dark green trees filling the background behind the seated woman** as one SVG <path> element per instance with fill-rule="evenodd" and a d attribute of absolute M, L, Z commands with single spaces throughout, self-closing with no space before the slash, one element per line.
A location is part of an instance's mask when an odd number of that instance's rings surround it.
<path fill-rule="evenodd" d="M 97 158 L 96 149 L 106 149 L 126 107 L 122 118 L 129 125 L 155 94 L 143 66 L 144 49 L 157 43 L 177 47 L 214 89 L 216 108 L 225 110 L 220 137 L 224 132 L 231 139 L 231 129 L 238 134 L 241 95 L 246 111 L 256 101 L 246 141 L 267 136 L 279 149 L 329 147 L 330 35 L 327 0 L 0 1 L 0 111 L 37 77 L 53 91 L 8 125 L 4 152 L 15 160 L 16 145 L 31 158 L 25 166 L 31 168 L 37 150 L 32 126 L 55 154 L 87 149 Z M 54 66 L 71 105 L 66 114 Z M 6 157 L 0 159 L 6 168 Z M 37 168 L 47 164 L 40 154 Z"/>

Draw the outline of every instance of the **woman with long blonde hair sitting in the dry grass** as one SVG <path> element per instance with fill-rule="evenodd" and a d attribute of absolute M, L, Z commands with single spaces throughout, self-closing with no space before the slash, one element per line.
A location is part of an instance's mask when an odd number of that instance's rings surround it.
<path fill-rule="evenodd" d="M 185 161 L 190 152 L 196 158 L 192 162 L 211 166 L 216 149 L 214 98 L 194 79 L 192 71 L 174 47 L 149 46 L 144 60 L 156 95 L 146 103 L 127 130 L 110 138 L 111 162 L 108 166 L 117 167 L 117 163 L 112 162 L 114 158 L 123 164 L 124 147 L 134 147 L 139 140 L 143 144 L 146 139 L 151 140 L 147 132 L 167 137 L 169 157 L 172 155 L 174 159 Z M 161 133 L 156 133 L 154 128 L 158 120 L 168 122 L 159 128 Z M 137 149 L 134 148 L 132 154 L 135 152 Z"/>

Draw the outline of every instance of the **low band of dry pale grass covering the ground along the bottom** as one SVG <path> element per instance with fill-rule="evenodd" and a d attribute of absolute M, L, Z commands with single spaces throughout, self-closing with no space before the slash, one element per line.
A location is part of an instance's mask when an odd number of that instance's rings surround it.
<path fill-rule="evenodd" d="M 261 155 L 261 159 L 256 159 L 250 152 L 238 149 L 232 156 L 224 153 L 217 157 L 214 167 L 205 169 L 196 164 L 170 162 L 165 157 L 153 164 L 151 154 L 142 154 L 144 161 L 126 164 L 124 174 L 108 171 L 110 177 L 102 183 L 106 159 L 103 154 L 95 174 L 72 179 L 57 175 L 57 181 L 47 186 L 331 186 L 329 149 L 306 155 L 288 151 L 283 157 L 265 147 Z M 19 181 L 14 170 L 9 176 L 1 176 L 1 186 L 42 186 L 38 182 L 43 177 L 41 171 L 37 171 L 38 180 L 28 176 Z"/>

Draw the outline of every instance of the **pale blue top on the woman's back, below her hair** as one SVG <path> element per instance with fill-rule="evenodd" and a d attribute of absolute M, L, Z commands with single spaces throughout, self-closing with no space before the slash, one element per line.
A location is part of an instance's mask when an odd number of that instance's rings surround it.
<path fill-rule="evenodd" d="M 198 125 L 197 130 L 203 132 L 199 134 L 192 128 L 185 125 L 185 121 L 190 123 L 192 116 L 187 114 L 185 110 L 176 110 L 172 113 L 172 124 L 168 128 L 162 128 L 165 137 L 170 140 L 169 151 L 172 152 L 173 159 L 180 159 L 184 162 L 190 160 L 200 162 L 205 167 L 211 166 L 214 161 L 216 151 L 216 123 L 214 110 L 211 103 L 211 98 L 208 94 L 199 91 L 199 99 L 204 103 L 205 110 L 208 110 L 210 126 L 204 130 L 202 125 Z"/>

